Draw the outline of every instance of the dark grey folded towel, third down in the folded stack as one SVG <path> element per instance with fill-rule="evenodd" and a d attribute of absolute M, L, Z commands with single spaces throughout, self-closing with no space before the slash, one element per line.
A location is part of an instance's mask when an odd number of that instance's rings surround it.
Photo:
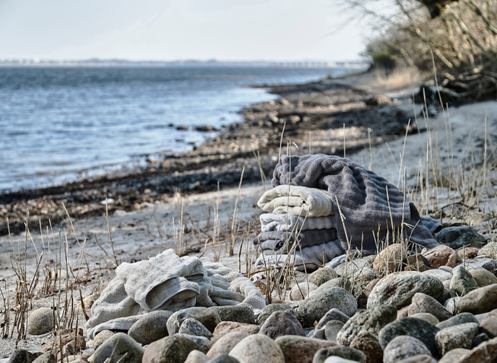
<path fill-rule="evenodd" d="M 315 245 L 322 245 L 323 243 L 334 241 L 337 239 L 337 230 L 330 228 L 329 230 L 302 230 L 299 231 L 278 231 L 259 233 L 256 238 L 252 240 L 254 247 L 263 251 L 286 252 L 287 242 L 288 250 L 291 245 L 298 241 L 299 247 L 311 247 Z"/>

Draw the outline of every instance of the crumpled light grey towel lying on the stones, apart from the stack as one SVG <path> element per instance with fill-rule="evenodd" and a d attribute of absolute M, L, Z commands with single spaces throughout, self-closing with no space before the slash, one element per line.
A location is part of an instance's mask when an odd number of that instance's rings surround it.
<path fill-rule="evenodd" d="M 166 250 L 151 259 L 117 267 L 116 277 L 94 302 L 85 326 L 92 339 L 105 329 L 129 329 L 137 315 L 149 311 L 238 304 L 258 312 L 266 301 L 239 272 Z"/>

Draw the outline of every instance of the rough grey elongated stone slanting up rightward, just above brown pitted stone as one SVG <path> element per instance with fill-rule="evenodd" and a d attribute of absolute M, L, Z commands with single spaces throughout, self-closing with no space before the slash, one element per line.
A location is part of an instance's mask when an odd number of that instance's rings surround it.
<path fill-rule="evenodd" d="M 392 323 L 396 318 L 397 308 L 391 304 L 357 313 L 339 331 L 337 342 L 339 345 L 349 346 L 356 335 L 364 331 L 378 335 L 383 327 Z"/>

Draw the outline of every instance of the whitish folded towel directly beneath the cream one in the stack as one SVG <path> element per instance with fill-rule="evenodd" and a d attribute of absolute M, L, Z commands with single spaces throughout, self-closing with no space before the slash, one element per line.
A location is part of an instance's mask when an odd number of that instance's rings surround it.
<path fill-rule="evenodd" d="M 293 214 L 264 213 L 259 217 L 261 230 L 271 232 L 272 230 L 328 230 L 334 228 L 334 217 L 302 217 Z"/>

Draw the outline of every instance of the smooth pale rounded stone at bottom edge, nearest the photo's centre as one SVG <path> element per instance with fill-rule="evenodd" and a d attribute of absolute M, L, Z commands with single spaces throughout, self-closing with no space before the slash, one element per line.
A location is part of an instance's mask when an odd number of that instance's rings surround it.
<path fill-rule="evenodd" d="M 240 363 L 285 363 L 285 357 L 278 344 L 263 334 L 249 335 L 235 345 L 229 355 Z"/>

